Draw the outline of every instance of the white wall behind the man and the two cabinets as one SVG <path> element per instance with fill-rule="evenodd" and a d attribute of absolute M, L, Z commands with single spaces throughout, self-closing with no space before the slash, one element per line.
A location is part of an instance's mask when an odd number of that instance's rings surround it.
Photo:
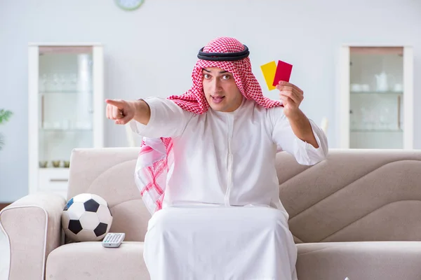
<path fill-rule="evenodd" d="M 190 87 L 196 53 L 216 36 L 248 45 L 255 75 L 274 59 L 293 64 L 291 82 L 305 91 L 302 109 L 316 123 L 330 120 L 338 145 L 338 51 L 342 43 L 413 45 L 415 104 L 421 104 L 419 0 L 145 0 L 125 12 L 113 0 L 0 0 L 0 202 L 27 194 L 27 43 L 90 41 L 105 44 L 105 95 L 135 99 L 181 94 Z M 265 95 L 277 98 L 276 92 Z M 421 112 L 415 110 L 415 148 L 421 148 Z M 107 122 L 107 146 L 125 146 L 123 127 Z M 30 137 L 30 136 L 29 136 Z"/>

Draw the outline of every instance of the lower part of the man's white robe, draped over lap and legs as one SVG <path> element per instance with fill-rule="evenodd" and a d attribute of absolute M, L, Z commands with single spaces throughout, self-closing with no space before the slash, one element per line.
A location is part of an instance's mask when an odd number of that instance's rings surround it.
<path fill-rule="evenodd" d="M 152 280 L 297 280 L 286 216 L 269 207 L 167 207 L 143 256 Z"/>

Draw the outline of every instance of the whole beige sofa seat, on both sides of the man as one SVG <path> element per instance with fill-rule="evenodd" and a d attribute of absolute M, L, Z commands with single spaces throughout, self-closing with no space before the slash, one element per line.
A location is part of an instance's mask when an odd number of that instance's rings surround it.
<path fill-rule="evenodd" d="M 420 241 L 359 241 L 297 244 L 299 280 L 420 280 Z M 149 279 L 143 242 L 119 248 L 79 242 L 48 255 L 46 279 Z M 222 280 L 222 279 L 221 279 Z"/>

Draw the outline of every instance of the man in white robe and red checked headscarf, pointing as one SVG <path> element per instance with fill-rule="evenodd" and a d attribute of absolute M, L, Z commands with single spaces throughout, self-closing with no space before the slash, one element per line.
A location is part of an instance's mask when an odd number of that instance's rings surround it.
<path fill-rule="evenodd" d="M 151 211 L 144 258 L 152 280 L 296 280 L 297 249 L 279 200 L 277 151 L 302 165 L 326 158 L 325 134 L 280 82 L 263 96 L 234 38 L 199 51 L 181 96 L 106 100 L 107 118 L 144 137 L 135 180 Z"/>

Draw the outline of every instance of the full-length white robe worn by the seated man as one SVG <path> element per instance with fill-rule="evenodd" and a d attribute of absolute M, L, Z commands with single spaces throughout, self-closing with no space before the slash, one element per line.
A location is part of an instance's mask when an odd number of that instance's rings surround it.
<path fill-rule="evenodd" d="M 314 148 L 295 136 L 282 107 L 265 109 L 245 98 L 234 112 L 201 115 L 168 99 L 145 102 L 149 123 L 135 122 L 133 129 L 143 137 L 171 137 L 174 153 L 163 209 L 145 237 L 152 279 L 295 280 L 297 253 L 279 199 L 276 152 L 314 165 L 328 153 L 323 131 L 310 120 Z"/>

